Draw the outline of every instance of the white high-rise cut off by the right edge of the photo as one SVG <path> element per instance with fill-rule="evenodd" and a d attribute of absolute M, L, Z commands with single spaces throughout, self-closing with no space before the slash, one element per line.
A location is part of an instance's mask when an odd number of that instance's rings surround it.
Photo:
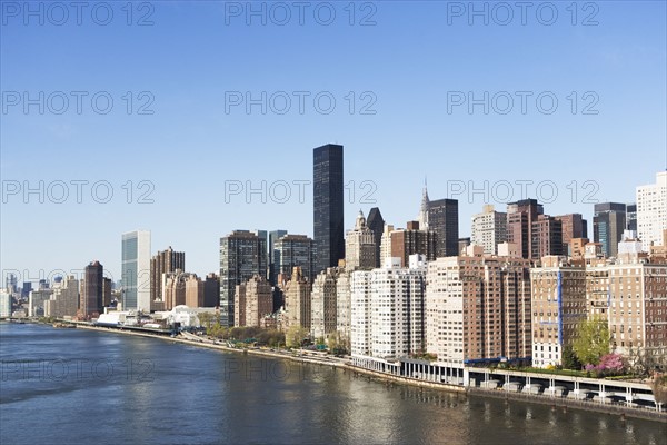
<path fill-rule="evenodd" d="M 637 187 L 637 235 L 645 251 L 651 244 L 665 245 L 667 229 L 667 171 L 656 175 L 656 184 Z"/>

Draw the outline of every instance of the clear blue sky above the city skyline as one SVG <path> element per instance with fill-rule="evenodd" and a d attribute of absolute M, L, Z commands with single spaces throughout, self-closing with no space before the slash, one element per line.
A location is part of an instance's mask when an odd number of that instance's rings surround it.
<path fill-rule="evenodd" d="M 427 177 L 461 236 L 522 197 L 591 231 L 667 162 L 664 1 L 0 4 L 3 276 L 119 279 L 133 229 L 197 274 L 233 229 L 312 235 L 328 142 L 348 229 L 375 206 L 405 227 Z"/>

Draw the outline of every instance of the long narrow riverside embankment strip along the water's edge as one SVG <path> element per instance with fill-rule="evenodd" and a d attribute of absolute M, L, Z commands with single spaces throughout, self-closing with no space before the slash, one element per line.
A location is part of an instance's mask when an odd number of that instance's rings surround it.
<path fill-rule="evenodd" d="M 50 326 L 48 324 L 44 324 L 44 325 Z M 603 404 L 596 404 L 594 402 L 575 400 L 575 399 L 570 399 L 570 398 L 566 398 L 566 397 L 546 397 L 544 395 L 511 393 L 511 392 L 501 390 L 501 389 L 485 389 L 485 388 L 478 388 L 478 387 L 470 388 L 470 387 L 464 387 L 460 385 L 449 385 L 449 384 L 442 384 L 442 383 L 425 382 L 425 380 L 418 380 L 418 379 L 414 379 L 414 378 L 409 378 L 409 377 L 394 376 L 394 375 L 378 373 L 378 372 L 366 369 L 366 368 L 360 368 L 360 367 L 351 365 L 348 359 L 345 359 L 345 360 L 329 359 L 329 358 L 323 359 L 323 358 L 313 357 L 313 356 L 305 357 L 305 356 L 300 356 L 300 355 L 293 355 L 293 354 L 287 354 L 287 353 L 282 354 L 282 353 L 277 353 L 277 352 L 271 352 L 271 350 L 252 349 L 252 348 L 239 349 L 239 348 L 232 348 L 232 347 L 220 345 L 220 344 L 213 344 L 212 340 L 199 338 L 193 335 L 192 335 L 193 338 L 187 338 L 187 337 L 183 338 L 181 336 L 170 337 L 170 336 L 166 336 L 166 335 L 160 335 L 158 333 L 156 333 L 156 334 L 140 333 L 140 332 L 125 330 L 125 329 L 119 329 L 119 328 L 113 328 L 113 327 L 89 326 L 89 325 L 80 325 L 80 324 L 77 324 L 77 328 L 87 329 L 87 330 L 97 330 L 97 332 L 103 332 L 103 333 L 116 333 L 116 334 L 121 334 L 121 335 L 131 335 L 131 336 L 138 336 L 138 337 L 159 338 L 159 339 L 163 339 L 163 340 L 171 340 L 173 343 L 179 343 L 182 345 L 198 346 L 198 347 L 203 347 L 207 349 L 220 350 L 223 353 L 255 355 L 255 356 L 260 356 L 260 357 L 289 359 L 291 362 L 297 362 L 297 363 L 331 366 L 334 368 L 341 368 L 345 372 L 351 372 L 352 375 L 355 375 L 355 376 L 358 376 L 358 375 L 366 376 L 369 379 L 369 382 L 376 380 L 377 383 L 384 383 L 385 385 L 387 385 L 388 383 L 391 383 L 391 384 L 398 384 L 398 385 L 417 386 L 420 388 L 441 390 L 441 392 L 447 392 L 447 393 L 451 393 L 451 394 L 464 393 L 467 396 L 474 396 L 474 397 L 490 397 L 490 398 L 496 398 L 496 399 L 506 399 L 506 400 L 511 399 L 511 400 L 522 402 L 522 403 L 535 403 L 535 404 L 539 404 L 539 405 L 551 405 L 552 409 L 555 409 L 557 407 L 561 408 L 564 411 L 567 411 L 567 408 L 571 408 L 571 409 L 578 409 L 578 411 L 595 412 L 598 414 L 608 414 L 608 415 L 615 415 L 615 416 L 617 415 L 617 416 L 619 416 L 619 421 L 621 421 L 621 422 L 625 421 L 626 417 L 633 417 L 633 418 L 640 418 L 640 419 L 650 421 L 650 422 L 667 423 L 667 413 L 658 413 L 658 412 L 651 411 L 651 409 L 633 408 L 633 407 L 627 407 L 627 406 L 623 406 L 623 405 L 603 405 Z"/>

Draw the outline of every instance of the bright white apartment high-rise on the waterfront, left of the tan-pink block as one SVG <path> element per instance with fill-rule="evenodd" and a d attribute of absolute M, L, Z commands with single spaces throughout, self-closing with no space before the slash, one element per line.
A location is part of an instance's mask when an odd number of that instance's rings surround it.
<path fill-rule="evenodd" d="M 390 261 L 369 273 L 354 273 L 352 355 L 398 358 L 422 353 L 425 293 L 424 256 L 411 256 L 410 267 Z"/>

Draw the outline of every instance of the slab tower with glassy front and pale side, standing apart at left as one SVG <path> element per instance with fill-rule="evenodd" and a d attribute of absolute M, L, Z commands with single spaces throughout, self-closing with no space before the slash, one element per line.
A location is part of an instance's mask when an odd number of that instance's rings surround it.
<path fill-rule="evenodd" d="M 150 231 L 122 234 L 122 308 L 150 312 Z"/>

